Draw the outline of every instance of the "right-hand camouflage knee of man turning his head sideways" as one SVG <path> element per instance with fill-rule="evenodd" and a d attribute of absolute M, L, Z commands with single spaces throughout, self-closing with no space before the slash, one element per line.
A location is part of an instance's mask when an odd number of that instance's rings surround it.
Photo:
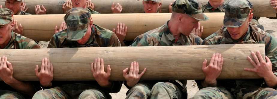
<path fill-rule="evenodd" d="M 182 92 L 173 83 L 156 83 L 151 90 L 150 99 L 182 99 Z"/>

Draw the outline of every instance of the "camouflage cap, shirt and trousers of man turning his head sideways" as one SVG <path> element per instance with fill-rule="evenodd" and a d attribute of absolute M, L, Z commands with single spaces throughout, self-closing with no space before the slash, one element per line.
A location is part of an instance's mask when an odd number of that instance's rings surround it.
<path fill-rule="evenodd" d="M 187 14 L 197 20 L 207 20 L 202 13 L 201 4 L 195 0 L 177 0 L 172 5 L 174 13 Z M 168 21 L 169 22 L 169 21 Z M 189 36 L 181 34 L 176 39 L 168 28 L 168 22 L 136 37 L 130 46 L 178 46 L 200 45 L 203 41 L 199 36 L 191 33 Z M 125 86 L 127 84 L 125 83 Z M 163 80 L 163 81 L 139 81 L 134 87 L 127 86 L 126 99 L 185 99 L 187 98 L 186 80 Z"/>

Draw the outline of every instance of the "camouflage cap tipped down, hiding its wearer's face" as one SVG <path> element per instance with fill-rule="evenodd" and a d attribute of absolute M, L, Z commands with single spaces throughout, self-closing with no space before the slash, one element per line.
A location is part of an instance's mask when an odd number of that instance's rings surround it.
<path fill-rule="evenodd" d="M 88 30 L 90 17 L 91 12 L 86 8 L 76 7 L 68 10 L 64 16 L 64 22 L 67 25 L 67 40 L 82 39 Z"/>

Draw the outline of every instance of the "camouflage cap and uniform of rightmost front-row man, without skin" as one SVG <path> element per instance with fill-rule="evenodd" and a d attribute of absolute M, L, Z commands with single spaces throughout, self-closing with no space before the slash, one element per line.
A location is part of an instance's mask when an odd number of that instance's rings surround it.
<path fill-rule="evenodd" d="M 239 8 L 242 7 L 242 8 Z M 228 9 L 225 12 L 225 27 L 204 39 L 202 45 L 217 44 L 265 44 L 266 56 L 272 62 L 272 71 L 277 75 L 277 44 L 276 39 L 260 28 L 249 24 L 246 34 L 238 40 L 231 38 L 226 27 L 238 28 L 249 16 L 251 3 L 247 0 L 229 1 L 224 4 Z M 237 12 L 237 13 L 233 13 Z M 199 91 L 194 99 L 271 99 L 277 98 L 277 91 L 268 88 L 264 79 L 252 80 L 217 80 L 216 87 L 203 88 L 201 81 L 197 80 Z"/>

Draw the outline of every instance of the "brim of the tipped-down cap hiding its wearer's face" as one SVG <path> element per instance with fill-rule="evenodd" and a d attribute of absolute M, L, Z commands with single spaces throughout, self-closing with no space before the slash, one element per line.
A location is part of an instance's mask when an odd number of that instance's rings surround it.
<path fill-rule="evenodd" d="M 80 31 L 70 31 L 69 29 L 67 29 L 67 40 L 78 41 L 85 36 L 87 31 L 87 28 Z"/>

